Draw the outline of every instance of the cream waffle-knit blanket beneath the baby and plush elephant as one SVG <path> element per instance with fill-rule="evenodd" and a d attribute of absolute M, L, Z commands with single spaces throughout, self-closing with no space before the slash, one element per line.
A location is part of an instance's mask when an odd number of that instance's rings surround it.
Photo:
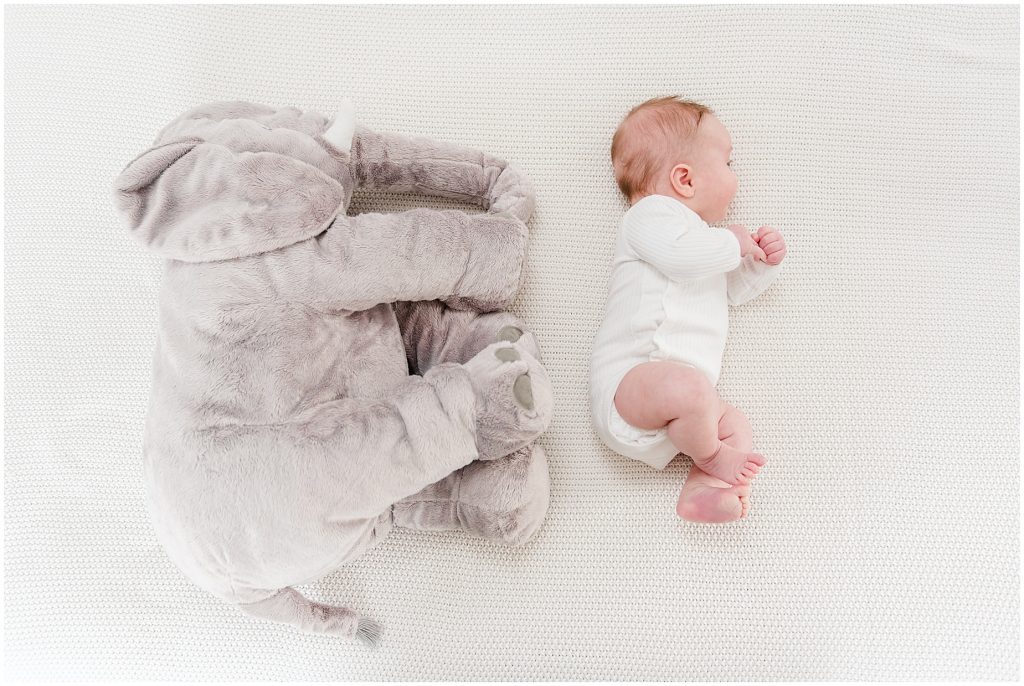
<path fill-rule="evenodd" d="M 1019 8 L 7 6 L 5 644 L 20 679 L 1019 676 Z M 712 106 L 729 223 L 788 256 L 718 384 L 767 467 L 748 519 L 606 449 L 591 344 L 626 210 L 608 149 Z M 380 646 L 249 617 L 171 564 L 142 498 L 162 263 L 111 184 L 243 99 L 510 160 L 538 190 L 513 309 L 555 388 L 551 508 L 509 549 L 396 530 L 301 587 Z M 352 212 L 455 201 L 357 192 Z"/>

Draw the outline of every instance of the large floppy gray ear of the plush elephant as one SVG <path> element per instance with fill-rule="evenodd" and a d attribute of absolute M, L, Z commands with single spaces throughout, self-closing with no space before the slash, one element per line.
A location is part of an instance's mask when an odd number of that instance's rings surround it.
<path fill-rule="evenodd" d="M 184 262 L 304 241 L 324 231 L 344 201 L 341 183 L 295 157 L 189 137 L 150 148 L 114 183 L 115 205 L 132 235 Z"/>

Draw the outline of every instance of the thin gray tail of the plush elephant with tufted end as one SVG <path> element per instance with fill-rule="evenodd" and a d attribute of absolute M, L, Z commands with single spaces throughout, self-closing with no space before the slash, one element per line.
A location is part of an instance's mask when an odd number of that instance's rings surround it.
<path fill-rule="evenodd" d="M 383 632 L 383 627 L 369 617 L 359 616 L 347 607 L 314 603 L 293 588 L 238 607 L 253 616 L 290 624 L 313 634 L 355 638 L 371 647 L 377 645 Z"/>

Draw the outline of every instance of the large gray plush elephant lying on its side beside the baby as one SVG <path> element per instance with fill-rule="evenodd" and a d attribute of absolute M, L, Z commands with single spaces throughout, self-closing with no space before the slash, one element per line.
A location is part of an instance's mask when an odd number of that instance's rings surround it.
<path fill-rule="evenodd" d="M 486 211 L 346 216 L 356 186 Z M 167 259 L 143 463 L 158 538 L 196 584 L 373 643 L 375 621 L 292 587 L 394 525 L 535 533 L 553 395 L 502 311 L 534 207 L 520 173 L 350 112 L 218 102 L 168 125 L 114 196 Z"/>

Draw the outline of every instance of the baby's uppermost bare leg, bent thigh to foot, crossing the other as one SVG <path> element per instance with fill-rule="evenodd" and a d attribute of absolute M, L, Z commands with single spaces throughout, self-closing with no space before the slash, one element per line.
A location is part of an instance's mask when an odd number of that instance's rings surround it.
<path fill-rule="evenodd" d="M 615 390 L 615 410 L 640 429 L 668 427 L 669 438 L 693 463 L 723 481 L 748 483 L 765 464 L 718 435 L 722 405 L 711 382 L 692 367 L 669 361 L 634 367 Z"/>

